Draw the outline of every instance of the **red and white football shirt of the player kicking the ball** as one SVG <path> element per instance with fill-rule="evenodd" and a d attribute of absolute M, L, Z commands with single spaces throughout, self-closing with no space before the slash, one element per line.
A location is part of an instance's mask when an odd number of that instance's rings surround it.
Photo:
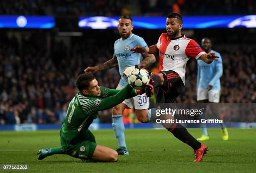
<path fill-rule="evenodd" d="M 199 58 L 205 51 L 195 40 L 185 37 L 170 40 L 167 33 L 160 35 L 156 44 L 159 50 L 159 71 L 173 70 L 179 74 L 185 84 L 186 64 L 189 58 Z"/>

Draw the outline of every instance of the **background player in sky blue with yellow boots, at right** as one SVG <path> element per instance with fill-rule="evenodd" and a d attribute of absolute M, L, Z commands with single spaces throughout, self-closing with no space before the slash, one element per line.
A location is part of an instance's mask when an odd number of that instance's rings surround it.
<path fill-rule="evenodd" d="M 220 53 L 211 49 L 212 43 L 209 38 L 202 39 L 202 49 L 206 53 L 213 52 L 219 56 L 218 61 L 206 64 L 202 60 L 197 61 L 197 101 L 199 103 L 220 102 L 220 77 L 223 73 L 222 58 Z M 220 118 L 220 112 L 216 104 L 210 104 L 213 115 Z M 220 123 L 223 140 L 228 140 L 228 130 L 224 123 Z M 202 124 L 202 136 L 197 140 L 209 140 L 206 124 Z"/>

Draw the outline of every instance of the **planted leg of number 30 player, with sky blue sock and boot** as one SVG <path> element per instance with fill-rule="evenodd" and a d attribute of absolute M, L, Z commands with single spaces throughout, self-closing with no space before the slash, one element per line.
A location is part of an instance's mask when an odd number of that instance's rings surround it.
<path fill-rule="evenodd" d="M 115 137 L 118 140 L 118 149 L 117 152 L 119 155 L 129 155 L 126 143 L 125 143 L 125 127 L 123 123 L 123 110 L 126 108 L 124 103 L 116 105 L 112 109 L 112 118 L 113 123 L 112 127 L 115 133 Z"/>

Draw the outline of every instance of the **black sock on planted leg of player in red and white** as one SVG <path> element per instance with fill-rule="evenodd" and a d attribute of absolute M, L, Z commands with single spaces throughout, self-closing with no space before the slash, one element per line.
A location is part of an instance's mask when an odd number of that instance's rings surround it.
<path fill-rule="evenodd" d="M 171 128 L 168 128 L 176 138 L 191 146 L 194 150 L 198 150 L 201 147 L 201 143 L 198 142 L 190 133 L 179 123 L 172 124 Z"/>

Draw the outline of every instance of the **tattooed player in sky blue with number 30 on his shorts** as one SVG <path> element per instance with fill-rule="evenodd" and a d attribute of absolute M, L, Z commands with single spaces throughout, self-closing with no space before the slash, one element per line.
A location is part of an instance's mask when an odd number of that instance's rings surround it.
<path fill-rule="evenodd" d="M 99 70 L 110 69 L 118 65 L 121 79 L 118 83 L 117 89 L 122 89 L 128 83 L 128 74 L 131 70 L 138 67 L 147 67 L 156 61 L 153 54 L 148 53 L 131 53 L 131 48 L 142 45 L 148 47 L 143 38 L 133 34 L 132 18 L 128 15 L 123 15 L 119 18 L 118 31 L 121 36 L 115 41 L 113 58 L 104 64 L 95 67 L 88 67 L 84 70 L 85 73 L 95 73 Z M 123 124 L 123 110 L 125 108 L 135 108 L 136 116 L 141 123 L 146 123 L 151 118 L 151 110 L 148 110 L 149 100 L 146 94 L 137 95 L 134 98 L 126 99 L 123 103 L 116 105 L 112 109 L 113 130 L 115 137 L 118 140 L 118 154 L 129 155 L 125 143 L 124 124 Z"/>

